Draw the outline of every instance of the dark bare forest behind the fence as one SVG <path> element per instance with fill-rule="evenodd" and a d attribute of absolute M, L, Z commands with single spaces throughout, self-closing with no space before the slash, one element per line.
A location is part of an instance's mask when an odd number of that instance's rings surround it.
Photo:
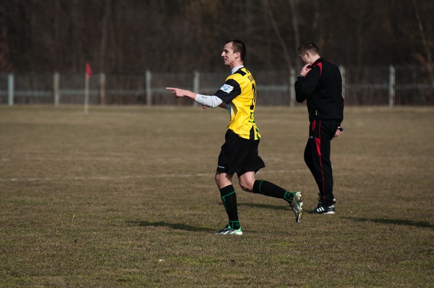
<path fill-rule="evenodd" d="M 250 69 L 300 67 L 307 41 L 337 65 L 426 65 L 432 15 L 431 0 L 9 0 L 0 71 L 225 71 L 230 39 Z"/>

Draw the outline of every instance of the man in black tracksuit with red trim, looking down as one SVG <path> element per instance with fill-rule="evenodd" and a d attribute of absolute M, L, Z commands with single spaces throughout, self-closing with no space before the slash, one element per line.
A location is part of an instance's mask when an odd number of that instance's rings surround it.
<path fill-rule="evenodd" d="M 342 76 L 319 56 L 314 43 L 303 44 L 299 53 L 305 66 L 297 75 L 295 95 L 299 103 L 307 100 L 310 122 L 304 157 L 319 188 L 318 206 L 310 213 L 335 214 L 330 141 L 342 131 Z"/>

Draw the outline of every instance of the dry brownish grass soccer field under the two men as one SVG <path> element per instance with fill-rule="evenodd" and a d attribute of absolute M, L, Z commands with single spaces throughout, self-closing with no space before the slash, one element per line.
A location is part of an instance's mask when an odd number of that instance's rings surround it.
<path fill-rule="evenodd" d="M 317 188 L 305 107 L 259 107 L 265 179 Z M 434 286 L 434 108 L 347 107 L 336 215 L 214 183 L 228 115 L 200 107 L 0 106 L 0 286 Z"/>

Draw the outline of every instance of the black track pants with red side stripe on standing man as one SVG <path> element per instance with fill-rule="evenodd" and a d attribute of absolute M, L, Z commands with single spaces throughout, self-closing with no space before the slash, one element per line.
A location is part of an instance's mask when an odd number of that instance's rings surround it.
<path fill-rule="evenodd" d="M 305 149 L 305 162 L 318 185 L 325 206 L 333 205 L 333 172 L 330 141 L 338 128 L 335 120 L 312 120 Z"/>

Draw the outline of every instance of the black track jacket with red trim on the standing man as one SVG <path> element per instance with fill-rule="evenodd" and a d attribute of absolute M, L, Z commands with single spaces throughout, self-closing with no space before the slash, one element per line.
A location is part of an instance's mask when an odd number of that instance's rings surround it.
<path fill-rule="evenodd" d="M 309 121 L 336 120 L 340 125 L 344 99 L 339 68 L 323 58 L 319 58 L 311 67 L 306 78 L 297 77 L 295 98 L 299 103 L 307 99 Z"/>

